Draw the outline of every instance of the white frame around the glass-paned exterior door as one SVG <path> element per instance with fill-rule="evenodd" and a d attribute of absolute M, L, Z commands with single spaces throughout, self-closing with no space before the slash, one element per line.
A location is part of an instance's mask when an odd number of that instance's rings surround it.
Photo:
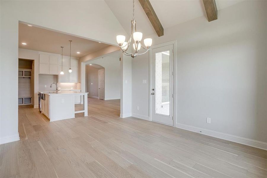
<path fill-rule="evenodd" d="M 161 43 L 159 45 L 154 45 L 151 46 L 149 50 L 149 120 L 152 120 L 152 95 L 151 95 L 151 88 L 152 88 L 152 60 L 153 60 L 153 55 L 152 55 L 152 49 L 156 49 L 159 47 L 164 47 L 167 45 L 173 45 L 173 127 L 176 127 L 176 40 L 170 41 L 170 42 L 165 42 Z M 156 121 L 153 121 L 156 122 Z M 161 123 L 164 124 L 164 123 Z M 167 125 L 167 124 L 164 124 Z"/>

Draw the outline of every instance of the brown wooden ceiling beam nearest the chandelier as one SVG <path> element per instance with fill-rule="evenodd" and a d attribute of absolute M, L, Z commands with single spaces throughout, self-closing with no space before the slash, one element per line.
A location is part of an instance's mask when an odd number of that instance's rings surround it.
<path fill-rule="evenodd" d="M 150 4 L 149 0 L 139 0 L 141 6 L 143 7 L 149 21 L 151 22 L 152 26 L 154 27 L 158 36 L 164 35 L 164 29 L 159 21 L 158 16 L 156 15 L 152 5 Z"/>

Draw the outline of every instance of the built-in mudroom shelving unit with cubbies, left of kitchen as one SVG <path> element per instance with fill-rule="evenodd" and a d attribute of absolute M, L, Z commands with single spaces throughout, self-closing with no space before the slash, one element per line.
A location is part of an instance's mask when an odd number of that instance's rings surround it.
<path fill-rule="evenodd" d="M 32 69 L 19 69 L 19 88 L 18 88 L 18 105 L 32 104 Z"/>

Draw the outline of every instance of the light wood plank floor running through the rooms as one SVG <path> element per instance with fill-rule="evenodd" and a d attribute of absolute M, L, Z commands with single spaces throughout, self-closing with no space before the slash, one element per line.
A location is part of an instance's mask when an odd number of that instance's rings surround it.
<path fill-rule="evenodd" d="M 88 117 L 49 122 L 19 107 L 20 141 L 0 145 L 0 177 L 267 177 L 267 151 L 134 117 L 89 98 Z"/>

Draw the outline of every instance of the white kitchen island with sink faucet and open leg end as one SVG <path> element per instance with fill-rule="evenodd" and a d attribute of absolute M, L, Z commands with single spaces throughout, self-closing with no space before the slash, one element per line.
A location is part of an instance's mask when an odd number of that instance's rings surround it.
<path fill-rule="evenodd" d="M 88 116 L 87 93 L 79 91 L 40 92 L 41 113 L 46 115 L 50 122 L 75 117 L 75 113 L 84 113 Z M 83 110 L 75 111 L 75 100 L 81 97 Z"/>

